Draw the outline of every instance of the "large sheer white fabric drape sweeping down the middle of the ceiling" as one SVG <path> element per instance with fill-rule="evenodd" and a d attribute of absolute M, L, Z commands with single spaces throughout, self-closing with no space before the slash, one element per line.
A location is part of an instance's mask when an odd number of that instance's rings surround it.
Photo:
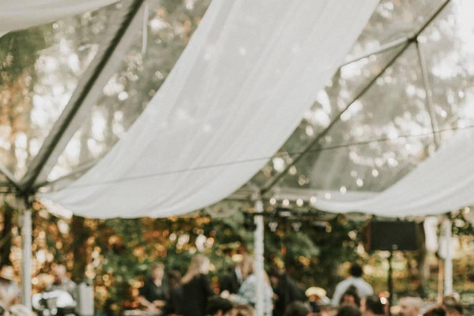
<path fill-rule="evenodd" d="M 95 218 L 177 215 L 227 197 L 296 128 L 377 3 L 212 1 L 126 135 L 43 197 Z"/>

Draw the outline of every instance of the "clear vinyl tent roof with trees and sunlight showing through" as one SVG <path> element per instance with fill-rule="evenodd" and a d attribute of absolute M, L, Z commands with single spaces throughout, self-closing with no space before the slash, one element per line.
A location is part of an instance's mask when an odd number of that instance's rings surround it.
<path fill-rule="evenodd" d="M 234 197 L 248 197 L 254 188 L 267 198 L 278 192 L 324 198 L 379 192 L 433 153 L 433 130 L 439 144 L 452 129 L 473 125 L 474 6 L 452 0 L 431 21 L 444 3 L 382 0 L 347 62 L 384 51 L 342 66 L 280 151 Z M 124 35 L 127 45 L 118 45 L 120 57 L 104 80 L 89 87 L 96 97 L 81 105 L 86 111 L 58 142 L 53 161 L 32 178 L 33 189 L 67 185 L 113 147 L 166 79 L 208 4 L 149 1 L 148 10 L 136 13 Z M 0 39 L 1 170 L 28 183 L 22 178 L 31 174 L 61 112 L 83 88 L 88 67 L 101 58 L 102 47 L 118 32 L 113 25 L 127 18 L 131 6 L 121 1 Z M 428 22 L 418 44 L 409 40 Z M 426 59 L 432 113 L 418 48 Z M 0 176 L 0 189 L 6 182 Z"/>

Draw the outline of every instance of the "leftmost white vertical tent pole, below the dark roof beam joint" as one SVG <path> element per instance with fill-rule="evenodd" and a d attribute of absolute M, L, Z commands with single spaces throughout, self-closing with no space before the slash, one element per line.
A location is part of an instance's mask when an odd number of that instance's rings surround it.
<path fill-rule="evenodd" d="M 25 198 L 22 201 L 21 223 L 21 303 L 31 311 L 32 220 L 30 206 L 28 198 Z"/>

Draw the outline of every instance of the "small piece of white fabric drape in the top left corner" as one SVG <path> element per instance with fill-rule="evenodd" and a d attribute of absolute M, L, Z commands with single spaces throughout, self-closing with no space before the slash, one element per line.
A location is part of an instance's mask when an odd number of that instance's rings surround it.
<path fill-rule="evenodd" d="M 10 31 L 96 10 L 118 0 L 0 0 L 0 37 Z"/>

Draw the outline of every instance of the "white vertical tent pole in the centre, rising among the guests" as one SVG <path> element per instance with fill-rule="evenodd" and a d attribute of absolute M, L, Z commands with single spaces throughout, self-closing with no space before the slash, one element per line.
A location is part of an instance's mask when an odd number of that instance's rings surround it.
<path fill-rule="evenodd" d="M 255 212 L 263 213 L 263 202 L 259 198 L 255 201 Z M 254 233 L 254 272 L 257 279 L 255 284 L 256 304 L 255 310 L 257 316 L 264 316 L 264 292 L 265 292 L 265 271 L 264 271 L 264 222 L 263 215 L 255 215 L 254 218 L 255 233 Z"/>

